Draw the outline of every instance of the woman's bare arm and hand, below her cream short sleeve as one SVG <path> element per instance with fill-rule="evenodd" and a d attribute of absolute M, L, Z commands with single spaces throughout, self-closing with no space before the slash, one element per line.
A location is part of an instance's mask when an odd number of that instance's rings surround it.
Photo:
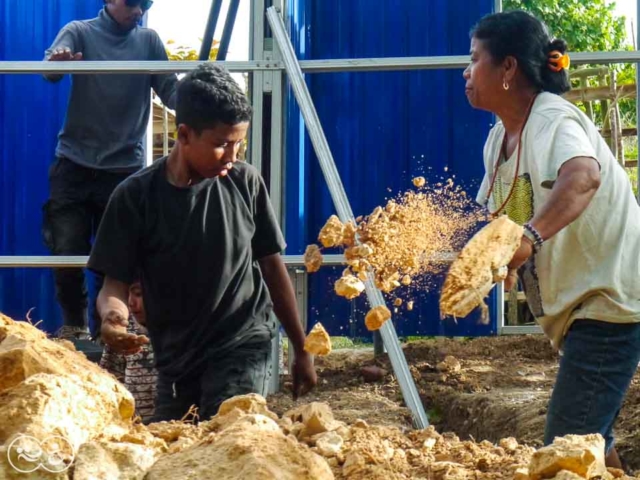
<path fill-rule="evenodd" d="M 553 184 L 549 200 L 531 220 L 544 240 L 567 227 L 584 212 L 600 187 L 600 165 L 594 158 L 576 157 L 565 162 Z M 544 248 L 544 247 L 543 247 Z M 517 281 L 516 271 L 533 254 L 533 245 L 523 237 L 520 248 L 509 263 L 505 289 Z"/>

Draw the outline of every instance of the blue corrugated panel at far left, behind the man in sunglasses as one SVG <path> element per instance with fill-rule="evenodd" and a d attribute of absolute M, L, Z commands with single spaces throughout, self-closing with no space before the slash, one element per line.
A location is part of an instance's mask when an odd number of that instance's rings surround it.
<path fill-rule="evenodd" d="M 71 20 L 91 18 L 102 0 L 0 0 L 0 59 L 42 60 Z M 0 75 L 0 255 L 48 255 L 41 208 L 47 172 L 66 110 L 69 79 L 51 85 L 38 75 Z M 42 319 L 56 329 L 60 314 L 50 270 L 0 271 L 0 311 Z"/>

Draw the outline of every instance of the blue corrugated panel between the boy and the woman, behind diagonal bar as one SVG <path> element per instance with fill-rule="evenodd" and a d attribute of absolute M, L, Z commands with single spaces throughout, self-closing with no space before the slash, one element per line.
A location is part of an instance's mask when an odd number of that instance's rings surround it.
<path fill-rule="evenodd" d="M 468 32 L 493 3 L 297 0 L 288 13 L 300 59 L 467 55 Z M 356 215 L 408 189 L 416 175 L 453 174 L 475 194 L 492 117 L 469 106 L 461 70 L 313 74 L 307 83 Z M 335 209 L 292 95 L 288 107 L 286 236 L 288 253 L 299 254 Z M 366 336 L 366 301 L 337 298 L 338 275 L 327 269 L 310 276 L 310 324 Z M 415 309 L 395 316 L 400 335 L 496 332 L 495 316 L 485 326 L 475 317 L 441 322 L 437 293 L 416 293 Z"/>

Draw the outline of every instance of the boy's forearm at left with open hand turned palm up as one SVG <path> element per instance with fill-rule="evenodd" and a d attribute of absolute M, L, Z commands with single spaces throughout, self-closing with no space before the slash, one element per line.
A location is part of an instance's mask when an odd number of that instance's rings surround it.
<path fill-rule="evenodd" d="M 104 343 L 117 352 L 131 354 L 149 343 L 149 339 L 144 335 L 127 333 L 128 296 L 129 285 L 107 276 L 98 294 L 96 306 L 102 319 L 100 334 Z"/>

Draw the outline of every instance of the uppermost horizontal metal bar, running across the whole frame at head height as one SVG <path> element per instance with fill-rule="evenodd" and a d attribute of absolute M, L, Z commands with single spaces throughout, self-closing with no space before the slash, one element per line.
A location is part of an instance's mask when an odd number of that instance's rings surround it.
<path fill-rule="evenodd" d="M 74 73 L 74 74 L 124 74 L 124 73 L 185 73 L 195 69 L 202 62 L 175 61 L 82 61 L 82 62 L 43 62 L 43 61 L 2 61 L 0 74 L 18 73 Z M 218 62 L 230 72 L 256 72 L 265 70 L 284 70 L 282 62 Z M 640 63 L 640 51 L 625 52 L 583 52 L 572 53 L 571 63 L 575 65 L 607 65 L 613 63 Z M 338 60 L 302 60 L 299 67 L 305 73 L 329 72 L 379 72 L 398 70 L 437 70 L 460 69 L 469 64 L 467 55 L 440 57 L 385 57 L 351 58 Z"/>

